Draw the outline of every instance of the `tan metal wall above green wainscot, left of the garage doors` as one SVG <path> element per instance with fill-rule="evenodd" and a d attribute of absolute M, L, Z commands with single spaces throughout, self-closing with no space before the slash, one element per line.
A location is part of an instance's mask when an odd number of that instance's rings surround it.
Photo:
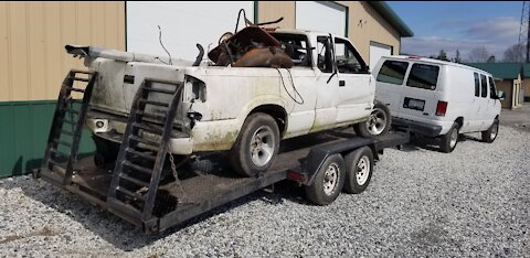
<path fill-rule="evenodd" d="M 55 99 L 65 44 L 125 50 L 125 2 L 0 2 L 0 101 Z"/>

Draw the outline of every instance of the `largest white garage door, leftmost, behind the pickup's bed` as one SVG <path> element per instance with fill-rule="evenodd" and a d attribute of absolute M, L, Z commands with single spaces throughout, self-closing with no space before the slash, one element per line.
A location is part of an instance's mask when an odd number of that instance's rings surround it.
<path fill-rule="evenodd" d="M 254 2 L 158 2 L 127 1 L 127 51 L 167 56 L 162 43 L 172 57 L 194 61 L 199 43 L 208 51 L 218 45 L 224 32 L 234 32 L 237 12 L 245 9 L 254 21 Z M 244 28 L 243 19 L 239 30 Z M 206 52 L 208 53 L 208 52 Z"/>

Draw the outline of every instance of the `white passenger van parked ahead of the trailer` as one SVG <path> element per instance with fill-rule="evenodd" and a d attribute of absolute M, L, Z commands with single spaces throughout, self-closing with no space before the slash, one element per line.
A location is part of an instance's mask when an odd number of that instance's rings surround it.
<path fill-rule="evenodd" d="M 393 123 L 412 132 L 441 137 L 452 152 L 458 133 L 481 132 L 492 142 L 499 129 L 500 100 L 488 72 L 470 66 L 416 57 L 381 57 L 373 75 L 375 99 L 386 105 Z"/>

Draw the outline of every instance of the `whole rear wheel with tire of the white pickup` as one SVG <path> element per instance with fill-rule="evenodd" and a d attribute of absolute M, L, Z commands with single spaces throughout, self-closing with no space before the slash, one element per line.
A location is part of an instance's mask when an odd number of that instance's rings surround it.
<path fill-rule="evenodd" d="M 274 162 L 279 148 L 278 125 L 267 114 L 250 115 L 230 151 L 230 161 L 237 173 L 257 176 Z"/>

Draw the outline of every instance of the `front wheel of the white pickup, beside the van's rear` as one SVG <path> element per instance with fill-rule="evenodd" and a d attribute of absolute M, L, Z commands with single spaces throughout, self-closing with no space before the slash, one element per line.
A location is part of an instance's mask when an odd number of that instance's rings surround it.
<path fill-rule="evenodd" d="M 372 112 L 367 121 L 353 126 L 356 133 L 364 138 L 379 138 L 384 136 L 392 123 L 390 109 L 380 101 L 375 101 Z"/>

